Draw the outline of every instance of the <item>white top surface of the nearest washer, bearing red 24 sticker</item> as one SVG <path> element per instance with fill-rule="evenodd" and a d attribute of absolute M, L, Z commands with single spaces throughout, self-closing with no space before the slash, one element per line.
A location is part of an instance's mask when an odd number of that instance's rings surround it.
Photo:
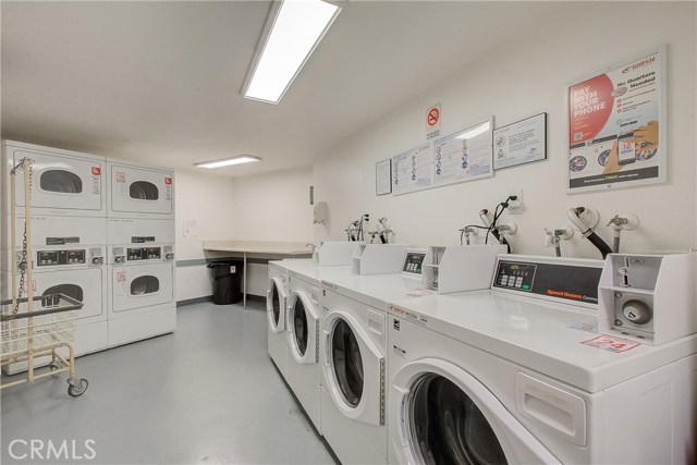
<path fill-rule="evenodd" d="M 597 332 L 597 310 L 489 290 L 389 303 L 392 315 L 587 392 L 697 353 L 697 334 L 658 346 L 617 341 L 623 352 L 584 344 L 606 339 Z"/>

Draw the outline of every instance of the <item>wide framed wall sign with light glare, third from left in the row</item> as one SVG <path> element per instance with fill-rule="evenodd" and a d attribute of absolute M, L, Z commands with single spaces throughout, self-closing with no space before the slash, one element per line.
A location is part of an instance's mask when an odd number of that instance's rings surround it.
<path fill-rule="evenodd" d="M 491 147 L 493 118 L 433 140 L 437 186 L 493 175 Z"/>

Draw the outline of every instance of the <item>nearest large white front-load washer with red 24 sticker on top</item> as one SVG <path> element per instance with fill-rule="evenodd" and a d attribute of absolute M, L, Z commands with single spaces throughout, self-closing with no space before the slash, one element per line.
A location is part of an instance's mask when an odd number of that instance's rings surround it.
<path fill-rule="evenodd" d="M 592 332 L 601 266 L 501 257 L 491 291 L 390 305 L 390 463 L 686 463 L 697 336 Z"/>

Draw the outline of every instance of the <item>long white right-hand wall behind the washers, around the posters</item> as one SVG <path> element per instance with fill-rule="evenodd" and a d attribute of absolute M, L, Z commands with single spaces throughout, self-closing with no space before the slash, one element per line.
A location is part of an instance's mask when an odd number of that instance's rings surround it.
<path fill-rule="evenodd" d="M 617 19 L 631 27 L 619 27 Z M 315 162 L 316 200 L 326 200 L 330 224 L 315 227 L 316 240 L 342 240 L 346 224 L 368 212 L 387 216 L 398 241 L 456 244 L 457 230 L 480 223 L 510 188 L 522 188 L 525 211 L 511 216 L 518 233 L 515 253 L 553 255 L 543 228 L 566 224 L 566 210 L 599 210 L 599 234 L 617 212 L 633 212 L 640 229 L 623 235 L 623 250 L 687 248 L 696 240 L 695 155 L 696 4 L 694 2 L 574 2 L 562 5 L 521 35 L 466 69 L 382 115 Z M 566 193 L 567 133 L 564 86 L 603 72 L 668 44 L 668 182 L 612 192 Z M 427 58 L 425 58 L 427 60 Z M 399 78 L 399 76 L 395 76 Z M 375 195 L 375 163 L 425 140 L 426 109 L 442 105 L 441 134 L 494 115 L 497 126 L 548 112 L 548 160 L 496 173 L 494 178 L 403 196 Z M 502 217 L 505 221 L 505 215 Z M 481 234 L 479 240 L 481 238 Z M 562 245 L 564 255 L 599 257 L 579 234 Z"/>

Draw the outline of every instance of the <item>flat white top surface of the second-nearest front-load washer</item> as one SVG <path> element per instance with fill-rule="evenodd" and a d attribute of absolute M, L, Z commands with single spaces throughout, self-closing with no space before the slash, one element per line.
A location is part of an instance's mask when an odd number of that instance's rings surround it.
<path fill-rule="evenodd" d="M 433 291 L 423 291 L 421 280 L 402 273 L 327 278 L 322 289 L 387 311 L 388 303 L 418 299 Z"/>

